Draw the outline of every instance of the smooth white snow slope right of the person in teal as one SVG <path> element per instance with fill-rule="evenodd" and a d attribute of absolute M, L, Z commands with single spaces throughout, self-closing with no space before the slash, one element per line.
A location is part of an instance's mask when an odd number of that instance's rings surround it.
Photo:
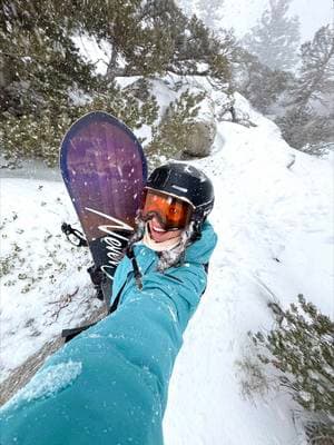
<path fill-rule="evenodd" d="M 333 165 L 291 149 L 268 120 L 252 119 L 257 128 L 220 123 L 217 152 L 197 162 L 215 180 L 219 241 L 177 359 L 168 444 L 297 444 L 289 398 L 243 399 L 236 360 L 252 356 L 248 330 L 272 326 L 269 300 L 286 306 L 304 294 L 334 315 Z"/>

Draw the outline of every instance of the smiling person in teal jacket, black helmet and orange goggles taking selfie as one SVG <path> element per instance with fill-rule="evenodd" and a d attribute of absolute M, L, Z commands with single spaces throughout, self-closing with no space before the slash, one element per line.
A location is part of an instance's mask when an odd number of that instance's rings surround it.
<path fill-rule="evenodd" d="M 1 409 L 6 445 L 159 445 L 183 333 L 206 288 L 216 235 L 210 180 L 167 164 L 146 187 L 108 317 L 51 356 Z"/>

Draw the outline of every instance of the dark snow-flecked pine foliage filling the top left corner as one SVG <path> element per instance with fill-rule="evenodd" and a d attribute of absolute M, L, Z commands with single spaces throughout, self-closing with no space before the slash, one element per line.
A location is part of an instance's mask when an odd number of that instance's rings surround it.
<path fill-rule="evenodd" d="M 76 86 L 89 90 L 92 66 L 70 36 L 70 17 L 59 2 L 4 0 L 0 14 L 0 111 L 40 113 Z M 67 20 L 68 19 L 68 20 Z M 52 100 L 51 100 L 52 101 Z"/>

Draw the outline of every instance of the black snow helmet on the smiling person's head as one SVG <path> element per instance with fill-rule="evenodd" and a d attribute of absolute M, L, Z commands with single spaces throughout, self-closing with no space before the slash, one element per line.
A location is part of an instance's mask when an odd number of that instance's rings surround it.
<path fill-rule="evenodd" d="M 181 162 L 170 162 L 156 168 L 146 187 L 173 195 L 194 207 L 191 220 L 203 222 L 214 207 L 214 186 L 197 168 Z"/>

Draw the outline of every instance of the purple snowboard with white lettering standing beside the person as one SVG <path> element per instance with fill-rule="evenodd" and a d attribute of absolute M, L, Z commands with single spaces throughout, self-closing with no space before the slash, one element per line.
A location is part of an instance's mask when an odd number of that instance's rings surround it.
<path fill-rule="evenodd" d="M 147 179 L 143 148 L 120 120 L 92 111 L 65 135 L 60 170 L 108 300 Z"/>

